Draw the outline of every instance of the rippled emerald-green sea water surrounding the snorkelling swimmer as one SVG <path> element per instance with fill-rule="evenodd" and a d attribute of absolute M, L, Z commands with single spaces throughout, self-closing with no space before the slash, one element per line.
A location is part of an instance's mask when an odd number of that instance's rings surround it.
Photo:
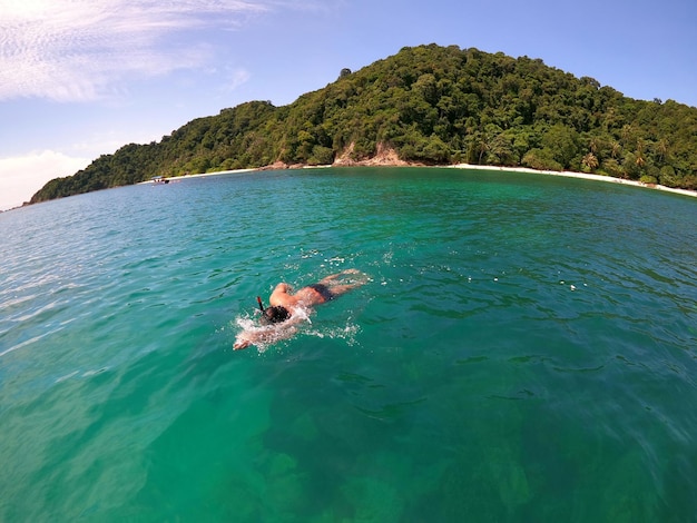
<path fill-rule="evenodd" d="M 322 169 L 0 215 L 1 521 L 695 521 L 697 201 Z M 233 352 L 279 280 L 371 282 Z"/>

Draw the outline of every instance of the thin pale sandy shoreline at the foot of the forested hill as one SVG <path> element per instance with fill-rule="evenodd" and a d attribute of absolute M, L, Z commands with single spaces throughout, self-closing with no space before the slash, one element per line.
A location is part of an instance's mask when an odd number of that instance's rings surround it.
<path fill-rule="evenodd" d="M 370 161 L 370 160 L 369 160 Z M 286 164 L 281 164 L 281 162 L 276 162 L 276 164 L 272 164 L 269 166 L 265 166 L 265 167 L 256 167 L 256 168 L 249 168 L 249 169 L 233 169 L 233 170 L 218 170 L 218 171 L 214 171 L 214 172 L 199 172 L 196 175 L 184 175 L 184 176 L 173 176 L 173 177 L 164 177 L 163 180 L 167 180 L 167 182 L 169 181 L 179 181 L 179 180 L 186 180 L 186 179 L 190 179 L 190 178 L 206 178 L 209 176 L 220 176 L 220 175 L 237 175 L 237 174 L 244 174 L 244 172 L 257 172 L 257 171 L 264 171 L 264 170 L 289 170 L 289 169 L 327 169 L 331 167 L 336 167 L 336 168 L 342 168 L 342 167 L 431 167 L 431 168 L 440 168 L 440 169 L 463 169 L 463 170 L 493 170 L 493 171 L 509 171 L 509 172 L 521 172 L 521 174 L 530 174 L 530 175 L 544 175 L 544 176 L 560 176 L 562 178 L 578 178 L 578 179 L 583 179 L 583 180 L 591 180 L 591 181 L 605 181 L 606 184 L 619 184 L 619 185 L 627 185 L 630 187 L 639 187 L 639 188 L 644 188 L 644 189 L 655 189 L 655 190 L 660 190 L 664 193 L 673 193 L 676 195 L 683 195 L 683 196 L 690 196 L 693 198 L 697 197 L 697 191 L 695 190 L 689 190 L 689 189 L 676 189 L 673 187 L 666 187 L 662 185 L 658 185 L 658 184 L 644 184 L 641 181 L 637 181 L 637 180 L 628 180 L 628 179 L 624 179 L 624 178 L 615 178 L 612 176 L 603 176 L 603 175 L 592 175 L 590 172 L 575 172 L 575 171 L 569 171 L 569 170 L 562 170 L 562 171 L 557 171 L 557 170 L 537 170 L 537 169 L 530 169 L 529 167 L 500 167 L 500 166 L 480 166 L 480 165 L 472 165 L 472 164 L 454 164 L 454 165 L 439 165 L 439 166 L 424 166 L 422 164 L 410 164 L 410 162 L 405 162 L 405 161 L 397 161 L 397 162 L 391 162 L 391 161 L 385 161 L 385 162 L 375 162 L 374 159 L 371 162 L 361 162 L 361 161 L 356 161 L 356 162 L 351 162 L 351 164 L 332 164 L 332 165 L 318 165 L 318 166 L 308 166 L 308 165 L 293 165 L 293 166 L 288 166 Z M 146 181 L 140 181 L 140 184 L 161 184 L 161 182 L 156 182 L 155 180 L 146 180 Z"/>

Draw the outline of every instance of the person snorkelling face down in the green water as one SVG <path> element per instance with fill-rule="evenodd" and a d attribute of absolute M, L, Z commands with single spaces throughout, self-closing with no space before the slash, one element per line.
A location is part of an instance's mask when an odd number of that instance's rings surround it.
<path fill-rule="evenodd" d="M 344 275 L 360 275 L 361 278 L 345 283 L 341 279 L 341 276 Z M 307 313 L 314 305 L 330 302 L 352 288 L 365 284 L 365 282 L 366 277 L 360 270 L 347 269 L 326 276 L 316 284 L 298 289 L 295 294 L 291 294 L 293 288 L 288 284 L 276 285 L 268 298 L 269 307 L 264 308 L 262 299 L 257 297 L 257 300 L 262 309 L 259 323 L 262 325 L 278 325 L 279 328 L 274 329 L 274 332 L 253 329 L 239 333 L 233 349 L 240 351 L 256 343 L 268 343 L 293 336 L 297 332 L 296 325 L 307 319 Z"/>

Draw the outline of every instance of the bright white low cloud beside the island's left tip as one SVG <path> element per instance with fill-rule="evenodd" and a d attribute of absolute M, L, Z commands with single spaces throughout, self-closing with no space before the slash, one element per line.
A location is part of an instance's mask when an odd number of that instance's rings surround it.
<path fill-rule="evenodd" d="M 28 201 L 47 181 L 70 176 L 90 160 L 45 150 L 16 158 L 0 158 L 0 210 Z"/>

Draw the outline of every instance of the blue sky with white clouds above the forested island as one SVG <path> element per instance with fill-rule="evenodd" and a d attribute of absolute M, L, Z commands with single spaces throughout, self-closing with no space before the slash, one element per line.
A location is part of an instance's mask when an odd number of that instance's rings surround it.
<path fill-rule="evenodd" d="M 694 0 L 0 0 L 0 209 L 122 145 L 432 42 L 697 107 Z"/>

